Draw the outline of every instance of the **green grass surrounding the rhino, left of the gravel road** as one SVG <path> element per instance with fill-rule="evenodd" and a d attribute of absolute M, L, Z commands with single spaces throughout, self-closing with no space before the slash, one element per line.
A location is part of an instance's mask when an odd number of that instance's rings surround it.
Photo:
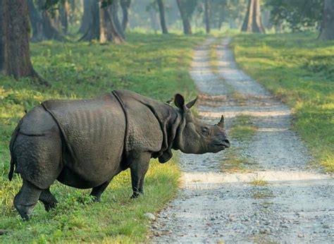
<path fill-rule="evenodd" d="M 145 180 L 145 195 L 130 200 L 130 174 L 120 173 L 102 195 L 101 203 L 87 197 L 89 190 L 51 186 L 59 204 L 45 212 L 35 207 L 31 221 L 23 222 L 13 208 L 20 178 L 7 180 L 8 143 L 25 110 L 46 99 L 94 97 L 115 89 L 128 89 L 166 101 L 180 92 L 187 99 L 196 90 L 188 69 L 192 47 L 204 40 L 193 35 L 131 33 L 122 45 L 42 42 L 31 45 L 37 72 L 51 83 L 46 89 L 30 79 L 0 76 L 0 243 L 123 242 L 146 240 L 145 212 L 157 212 L 175 196 L 180 171 L 177 160 L 153 160 Z"/>

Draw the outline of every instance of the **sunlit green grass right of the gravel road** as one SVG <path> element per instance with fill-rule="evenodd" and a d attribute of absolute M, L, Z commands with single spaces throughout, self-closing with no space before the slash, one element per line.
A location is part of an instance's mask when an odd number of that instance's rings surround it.
<path fill-rule="evenodd" d="M 334 171 L 334 41 L 313 33 L 236 35 L 237 63 L 295 111 L 316 163 Z"/>

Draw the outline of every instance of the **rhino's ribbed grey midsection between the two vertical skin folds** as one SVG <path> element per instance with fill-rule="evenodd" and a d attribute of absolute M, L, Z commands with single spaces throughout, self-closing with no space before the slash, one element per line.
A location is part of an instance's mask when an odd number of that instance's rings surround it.
<path fill-rule="evenodd" d="M 75 187 L 81 181 L 90 188 L 118 173 L 125 115 L 114 97 L 51 100 L 43 106 L 56 119 L 68 148 L 60 181 Z"/>

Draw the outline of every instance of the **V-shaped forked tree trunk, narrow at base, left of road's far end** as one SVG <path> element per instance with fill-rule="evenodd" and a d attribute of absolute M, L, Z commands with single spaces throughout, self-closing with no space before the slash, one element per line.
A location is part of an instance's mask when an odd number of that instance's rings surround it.
<path fill-rule="evenodd" d="M 190 19 L 192 18 L 192 13 L 194 13 L 195 8 L 197 7 L 197 0 L 176 0 L 176 3 L 178 4 L 178 9 L 182 18 L 183 33 L 192 34 Z"/>

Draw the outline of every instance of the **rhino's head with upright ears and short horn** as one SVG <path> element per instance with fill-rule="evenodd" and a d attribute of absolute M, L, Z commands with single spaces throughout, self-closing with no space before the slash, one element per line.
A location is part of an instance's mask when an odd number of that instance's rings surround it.
<path fill-rule="evenodd" d="M 230 147 L 224 127 L 224 117 L 216 125 L 202 123 L 192 116 L 190 108 L 197 99 L 185 104 L 182 95 L 176 94 L 174 103 L 183 116 L 183 123 L 176 135 L 175 146 L 182 152 L 204 154 L 206 152 L 220 152 Z"/>

